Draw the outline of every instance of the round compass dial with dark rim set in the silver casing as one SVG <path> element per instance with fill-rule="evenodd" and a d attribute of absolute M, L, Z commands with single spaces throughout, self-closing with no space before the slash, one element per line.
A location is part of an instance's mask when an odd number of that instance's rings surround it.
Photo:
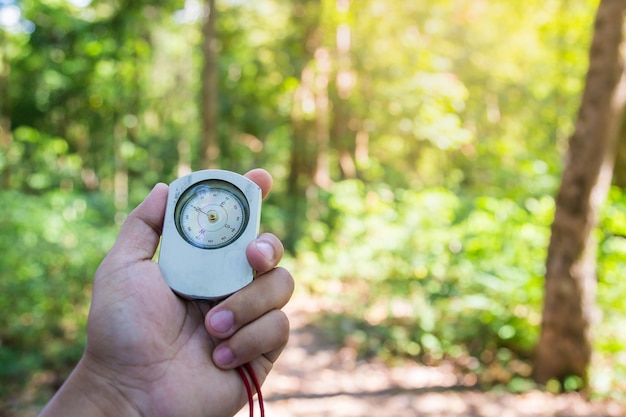
<path fill-rule="evenodd" d="M 233 184 L 206 180 L 185 190 L 176 205 L 174 221 L 180 235 L 201 249 L 218 249 L 236 240 L 246 228 L 249 207 Z"/>

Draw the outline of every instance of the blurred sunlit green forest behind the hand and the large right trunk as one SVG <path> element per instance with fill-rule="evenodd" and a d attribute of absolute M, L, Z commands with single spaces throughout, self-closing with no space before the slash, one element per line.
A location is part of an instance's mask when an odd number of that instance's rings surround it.
<path fill-rule="evenodd" d="M 535 387 L 598 2 L 207 4 L 0 0 L 0 407 L 59 386 L 125 216 L 156 182 L 207 167 L 272 173 L 262 228 L 298 291 L 332 306 L 319 322 L 338 342 Z M 625 153 L 594 232 L 590 392 L 615 399 Z"/>

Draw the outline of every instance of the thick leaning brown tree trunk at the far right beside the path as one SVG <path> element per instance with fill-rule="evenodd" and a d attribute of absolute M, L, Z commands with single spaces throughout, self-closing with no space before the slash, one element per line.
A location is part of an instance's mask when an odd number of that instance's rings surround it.
<path fill-rule="evenodd" d="M 624 109 L 625 9 L 624 0 L 602 0 L 598 7 L 589 71 L 548 247 L 535 362 L 535 378 L 540 383 L 575 376 L 582 386 L 587 384 L 596 292 L 592 231 L 610 185 Z"/>

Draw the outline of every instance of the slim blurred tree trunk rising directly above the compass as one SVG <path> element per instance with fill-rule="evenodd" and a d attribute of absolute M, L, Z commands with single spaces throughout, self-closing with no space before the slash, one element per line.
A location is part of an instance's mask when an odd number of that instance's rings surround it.
<path fill-rule="evenodd" d="M 202 140 L 200 155 L 202 168 L 217 168 L 220 156 L 217 138 L 218 91 L 217 91 L 217 34 L 215 0 L 207 0 L 208 15 L 202 26 L 204 35 L 202 53 Z"/>

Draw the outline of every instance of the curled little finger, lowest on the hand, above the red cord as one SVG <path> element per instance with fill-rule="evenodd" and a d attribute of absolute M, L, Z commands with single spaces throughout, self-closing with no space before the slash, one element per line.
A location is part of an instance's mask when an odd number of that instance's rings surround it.
<path fill-rule="evenodd" d="M 213 361 L 224 369 L 235 368 L 261 355 L 274 362 L 288 340 L 287 315 L 272 310 L 220 343 L 213 351 Z"/>

